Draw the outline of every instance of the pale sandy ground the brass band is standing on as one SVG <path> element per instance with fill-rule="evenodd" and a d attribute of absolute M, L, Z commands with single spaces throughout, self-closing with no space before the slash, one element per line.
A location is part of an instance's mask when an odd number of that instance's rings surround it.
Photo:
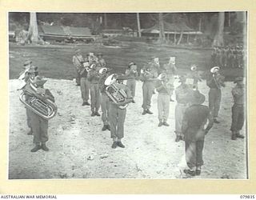
<path fill-rule="evenodd" d="M 58 114 L 49 122 L 50 151 L 34 147 L 27 135 L 26 110 L 19 101 L 18 80 L 10 80 L 9 178 L 190 178 L 184 142 L 174 142 L 174 102 L 170 102 L 170 127 L 158 127 L 157 95 L 152 98 L 154 114 L 142 115 L 142 82 L 137 82 L 135 104 L 127 108 L 125 149 L 111 149 L 110 131 L 102 131 L 100 117 L 90 117 L 82 106 L 79 87 L 68 80 L 50 79 L 45 87 L 54 94 Z M 178 86 L 178 82 L 175 82 Z M 246 178 L 246 139 L 230 140 L 231 87 L 222 90 L 221 124 L 206 135 L 202 174 L 195 178 Z M 206 83 L 199 85 L 206 94 Z M 245 134 L 245 131 L 242 131 Z"/>

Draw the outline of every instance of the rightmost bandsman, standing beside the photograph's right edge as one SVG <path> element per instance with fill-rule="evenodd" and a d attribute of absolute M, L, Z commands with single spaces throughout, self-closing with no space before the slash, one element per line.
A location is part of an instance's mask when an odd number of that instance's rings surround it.
<path fill-rule="evenodd" d="M 244 98 L 245 98 L 245 86 L 242 77 L 235 78 L 234 83 L 237 85 L 232 90 L 232 96 L 234 98 L 234 105 L 232 106 L 232 124 L 230 130 L 232 131 L 232 140 L 237 138 L 244 138 L 244 135 L 240 134 L 242 126 L 245 121 L 244 117 Z"/>

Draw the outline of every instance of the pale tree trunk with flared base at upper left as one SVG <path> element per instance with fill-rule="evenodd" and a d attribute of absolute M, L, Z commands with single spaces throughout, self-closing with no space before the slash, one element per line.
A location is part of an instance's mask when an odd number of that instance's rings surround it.
<path fill-rule="evenodd" d="M 29 28 L 29 34 L 28 34 L 27 40 L 32 43 L 38 43 L 37 14 L 34 12 L 30 13 L 30 28 Z"/>

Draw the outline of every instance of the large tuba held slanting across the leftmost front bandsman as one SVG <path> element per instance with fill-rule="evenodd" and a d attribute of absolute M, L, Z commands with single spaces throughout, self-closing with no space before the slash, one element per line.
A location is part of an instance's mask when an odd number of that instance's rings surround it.
<path fill-rule="evenodd" d="M 20 90 L 22 90 L 22 94 L 19 96 L 20 101 L 34 114 L 38 114 L 46 120 L 54 118 L 57 114 L 56 104 L 45 98 L 44 94 L 39 94 L 38 88 L 33 86 L 32 83 L 23 84 Z"/>

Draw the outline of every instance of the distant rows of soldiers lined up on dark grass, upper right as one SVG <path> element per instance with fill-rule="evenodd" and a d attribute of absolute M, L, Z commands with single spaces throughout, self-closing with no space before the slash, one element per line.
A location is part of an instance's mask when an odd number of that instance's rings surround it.
<path fill-rule="evenodd" d="M 211 66 L 243 68 L 246 52 L 242 46 L 214 46 L 211 54 Z"/>

